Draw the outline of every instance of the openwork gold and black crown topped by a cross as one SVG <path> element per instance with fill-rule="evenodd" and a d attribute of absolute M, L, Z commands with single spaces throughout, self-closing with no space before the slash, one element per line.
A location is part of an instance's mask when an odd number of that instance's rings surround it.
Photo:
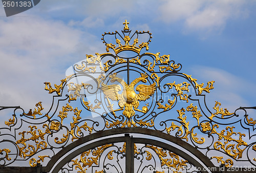
<path fill-rule="evenodd" d="M 125 20 L 125 22 L 123 23 L 124 28 L 122 30 L 122 34 L 120 34 L 119 32 L 115 31 L 115 32 L 109 32 L 109 33 L 104 33 L 102 34 L 102 40 L 103 43 L 106 46 L 106 51 L 109 52 L 109 49 L 113 49 L 115 54 L 117 55 L 118 53 L 122 52 L 122 51 L 133 51 L 136 53 L 140 53 L 142 48 L 146 48 L 146 50 L 148 50 L 148 44 L 150 44 L 151 42 L 151 34 L 150 31 L 135 31 L 133 34 L 131 34 L 131 31 L 128 27 L 128 22 L 127 20 Z M 141 44 L 138 45 L 138 47 L 136 47 L 136 44 L 138 44 L 139 42 L 139 35 L 140 34 L 148 34 L 148 40 L 146 42 L 141 42 Z M 115 39 L 116 39 L 116 44 L 114 45 L 112 43 L 108 43 L 106 42 L 105 37 L 108 35 L 114 35 Z M 133 44 L 130 45 L 130 41 L 133 40 Z M 121 43 L 122 41 L 122 43 Z"/>

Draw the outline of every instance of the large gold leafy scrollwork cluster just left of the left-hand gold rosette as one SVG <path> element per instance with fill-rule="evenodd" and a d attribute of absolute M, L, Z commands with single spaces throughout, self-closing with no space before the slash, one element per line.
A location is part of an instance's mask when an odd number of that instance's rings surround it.
<path fill-rule="evenodd" d="M 34 155 L 39 148 L 40 149 L 46 149 L 47 148 L 47 142 L 44 141 L 45 140 L 45 135 L 46 134 L 51 134 L 51 132 L 50 132 L 48 124 L 43 124 L 42 127 L 46 128 L 45 133 L 43 133 L 40 129 L 38 129 L 36 131 L 37 127 L 35 125 L 33 125 L 33 126 L 30 125 L 29 126 L 30 131 L 28 131 L 28 132 L 23 131 L 23 132 L 18 133 L 19 135 L 22 135 L 22 139 L 17 140 L 16 144 L 22 144 L 23 145 L 22 147 L 17 145 L 18 150 L 19 150 L 18 155 L 20 157 L 23 157 L 24 159 L 26 159 L 26 157 Z M 37 132 L 38 132 L 38 135 L 37 135 Z M 25 138 L 25 133 L 31 134 L 31 137 L 26 139 Z M 39 139 L 41 139 L 42 141 L 39 142 L 38 141 Z M 27 148 L 27 143 L 26 143 L 27 141 L 34 141 L 36 147 L 34 145 L 28 144 L 28 148 Z M 28 152 L 29 152 L 29 154 L 27 154 Z"/>

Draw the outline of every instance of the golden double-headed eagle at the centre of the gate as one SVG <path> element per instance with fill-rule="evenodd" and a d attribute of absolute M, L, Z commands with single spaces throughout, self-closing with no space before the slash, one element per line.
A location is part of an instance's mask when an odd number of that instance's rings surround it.
<path fill-rule="evenodd" d="M 104 83 L 101 83 L 101 90 L 105 95 L 105 98 L 108 100 L 110 111 L 115 115 L 115 111 L 123 110 L 123 115 L 127 118 L 131 118 L 135 115 L 135 111 L 139 111 L 142 113 L 147 112 L 147 105 L 143 106 L 142 110 L 137 109 L 140 102 L 139 101 L 145 101 L 149 99 L 156 91 L 156 83 L 153 83 L 151 85 L 145 85 L 140 84 L 136 87 L 136 91 L 139 92 L 139 94 L 136 94 L 134 91 L 134 87 L 138 82 L 144 82 L 146 83 L 146 78 L 148 77 L 146 74 L 141 73 L 141 77 L 134 79 L 131 84 L 127 85 L 127 83 L 116 76 L 116 73 L 109 76 L 111 78 L 111 82 L 119 82 L 123 87 L 122 94 L 119 94 L 118 92 L 121 91 L 121 87 L 118 84 L 112 84 L 112 85 L 106 85 Z M 110 100 L 113 101 L 119 101 L 118 105 L 120 109 L 113 110 L 113 104 L 110 103 Z M 134 111 L 135 110 L 135 111 Z"/>

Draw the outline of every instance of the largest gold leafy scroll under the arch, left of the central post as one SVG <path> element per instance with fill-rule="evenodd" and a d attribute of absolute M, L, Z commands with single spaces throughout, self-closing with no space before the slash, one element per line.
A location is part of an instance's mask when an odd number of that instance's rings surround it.
<path fill-rule="evenodd" d="M 102 145 L 100 147 L 97 147 L 97 149 L 90 149 L 86 152 L 83 152 L 80 155 L 80 160 L 78 161 L 78 159 L 76 160 L 71 160 L 73 162 L 72 165 L 75 165 L 75 169 L 80 169 L 81 171 L 78 172 L 84 172 L 86 173 L 86 169 L 83 169 L 85 167 L 91 167 L 93 164 L 98 165 L 98 160 L 101 156 L 101 154 L 104 152 L 104 150 L 108 147 L 113 146 L 113 144 L 106 144 L 106 145 Z M 94 157 L 88 157 L 90 154 L 92 154 Z M 82 165 L 81 165 L 82 163 Z"/>

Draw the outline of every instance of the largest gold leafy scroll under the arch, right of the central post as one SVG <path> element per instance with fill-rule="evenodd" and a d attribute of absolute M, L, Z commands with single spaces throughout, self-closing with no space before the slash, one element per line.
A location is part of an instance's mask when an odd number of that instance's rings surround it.
<path fill-rule="evenodd" d="M 179 171 L 179 170 L 183 170 L 184 167 L 186 166 L 186 163 L 188 163 L 186 160 L 184 161 L 184 160 L 180 159 L 180 157 L 178 155 L 176 155 L 175 153 L 171 153 L 171 152 L 168 152 L 171 159 L 167 159 L 166 158 L 167 157 L 166 150 L 164 150 L 162 148 L 158 148 L 157 146 L 146 145 L 146 147 L 154 150 L 154 152 L 157 154 L 157 156 L 159 157 L 159 159 L 161 161 L 161 166 L 166 165 L 169 168 L 172 167 L 172 168 L 175 168 L 176 171 Z"/>

